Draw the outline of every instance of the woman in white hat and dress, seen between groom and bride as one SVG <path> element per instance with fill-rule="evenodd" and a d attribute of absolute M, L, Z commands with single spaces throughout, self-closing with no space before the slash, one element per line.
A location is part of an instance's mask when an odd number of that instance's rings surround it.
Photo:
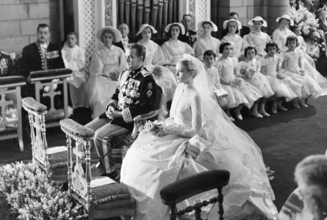
<path fill-rule="evenodd" d="M 177 87 L 177 80 L 175 74 L 173 74 L 170 69 L 162 66 L 162 64 L 166 63 L 165 54 L 162 52 L 161 47 L 151 40 L 152 34 L 156 33 L 157 30 L 155 30 L 153 26 L 143 24 L 136 33 L 136 36 L 142 36 L 142 39 L 139 40 L 138 43 L 143 44 L 147 52 L 143 65 L 152 73 L 153 78 L 164 93 L 159 119 L 165 119 L 168 117 L 167 102 L 173 100 L 174 92 Z"/>

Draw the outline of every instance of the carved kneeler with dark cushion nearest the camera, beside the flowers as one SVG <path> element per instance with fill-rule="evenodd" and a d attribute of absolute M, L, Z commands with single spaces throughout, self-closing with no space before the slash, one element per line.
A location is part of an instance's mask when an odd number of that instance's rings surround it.
<path fill-rule="evenodd" d="M 95 132 L 72 119 L 60 121 L 61 130 L 67 137 L 68 191 L 89 212 L 88 219 L 110 218 L 135 214 L 135 201 L 128 188 L 108 177 L 92 177 L 90 167 L 90 141 Z M 72 140 L 75 144 L 72 144 Z M 72 150 L 75 145 L 74 150 Z M 73 167 L 73 154 L 76 165 Z M 85 160 L 85 166 L 82 161 Z"/>

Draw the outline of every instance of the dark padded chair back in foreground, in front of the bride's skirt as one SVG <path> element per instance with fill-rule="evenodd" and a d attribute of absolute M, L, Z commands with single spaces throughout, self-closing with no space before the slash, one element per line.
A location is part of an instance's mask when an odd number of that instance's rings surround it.
<path fill-rule="evenodd" d="M 219 220 L 223 220 L 223 194 L 222 188 L 229 182 L 230 174 L 227 170 L 209 170 L 207 172 L 199 173 L 187 178 L 177 180 L 174 183 L 160 190 L 160 196 L 162 202 L 171 208 L 171 220 L 176 220 L 178 216 L 182 216 L 185 213 L 195 211 L 196 220 L 201 219 L 201 208 L 209 204 L 215 204 L 218 202 L 219 207 Z M 192 197 L 193 195 L 209 191 L 212 189 L 218 190 L 218 197 L 214 197 L 209 201 L 202 201 L 196 203 L 193 206 L 186 207 L 185 209 L 177 211 L 176 204 L 182 202 L 185 199 Z"/>

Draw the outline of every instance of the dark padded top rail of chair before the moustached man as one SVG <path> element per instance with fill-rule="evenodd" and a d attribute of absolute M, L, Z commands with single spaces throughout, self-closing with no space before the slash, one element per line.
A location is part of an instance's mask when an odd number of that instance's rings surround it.
<path fill-rule="evenodd" d="M 67 68 L 61 69 L 49 69 L 30 72 L 31 82 L 43 81 L 43 80 L 54 80 L 60 78 L 67 78 L 72 76 L 72 70 Z"/>

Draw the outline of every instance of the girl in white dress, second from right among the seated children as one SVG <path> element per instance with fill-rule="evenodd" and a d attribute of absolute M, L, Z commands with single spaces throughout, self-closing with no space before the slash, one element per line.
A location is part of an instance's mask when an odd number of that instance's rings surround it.
<path fill-rule="evenodd" d="M 272 113 L 276 114 L 277 109 L 287 111 L 283 107 L 283 97 L 289 102 L 296 97 L 301 97 L 302 85 L 292 81 L 289 77 L 285 77 L 282 74 L 278 74 L 279 71 L 279 59 L 276 55 L 278 51 L 278 45 L 274 41 L 270 41 L 266 44 L 266 53 L 268 53 L 262 59 L 261 72 L 267 76 L 272 90 L 275 92 L 276 99 L 272 104 Z M 294 91 L 293 89 L 294 88 Z"/>

